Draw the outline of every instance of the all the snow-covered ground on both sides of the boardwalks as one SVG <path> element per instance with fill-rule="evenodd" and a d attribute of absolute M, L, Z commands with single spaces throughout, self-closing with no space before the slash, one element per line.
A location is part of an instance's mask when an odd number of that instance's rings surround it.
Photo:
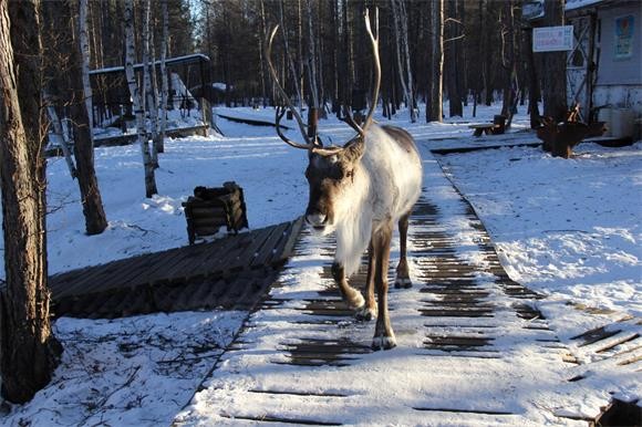
<path fill-rule="evenodd" d="M 444 124 L 411 125 L 401 114 L 393 123 L 406 127 L 424 156 L 432 156 L 427 139 L 472 139 L 467 125 L 491 121 L 498 108 L 480 107 L 477 118 L 468 110 L 464 119 Z M 220 110 L 273 116 L 272 110 Z M 527 123 L 519 115 L 514 127 L 526 128 Z M 237 181 L 253 229 L 301 215 L 308 197 L 306 153 L 288 147 L 270 127 L 222 118 L 218 126 L 225 137 L 167 140 L 156 171 L 161 194 L 153 199 L 144 197 L 136 145 L 96 148 L 110 226 L 94 237 L 84 235 L 77 185 L 64 159 L 50 159 L 50 273 L 187 244 L 180 202 L 195 186 Z M 325 143 L 353 134 L 335 118 L 322 121 L 320 132 Z M 289 135 L 299 137 L 297 131 Z M 528 133 L 516 139 L 537 142 Z M 511 279 L 548 295 L 540 309 L 562 340 L 642 313 L 642 144 L 582 144 L 576 153 L 569 160 L 524 147 L 437 156 L 488 228 Z M 431 183 L 424 186 L 429 197 Z M 199 312 L 114 321 L 61 319 L 54 331 L 65 353 L 51 385 L 27 405 L 6 407 L 10 413 L 0 415 L 0 424 L 168 425 L 245 316 Z M 630 392 L 640 397 L 639 387 Z"/>

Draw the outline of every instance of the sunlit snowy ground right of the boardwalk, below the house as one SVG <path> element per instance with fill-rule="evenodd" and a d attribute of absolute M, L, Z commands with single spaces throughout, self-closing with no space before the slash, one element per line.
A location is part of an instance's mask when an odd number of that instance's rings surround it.
<path fill-rule="evenodd" d="M 587 326 L 569 323 L 568 304 L 642 316 L 642 143 L 574 153 L 565 160 L 516 147 L 442 158 L 510 278 L 549 296 L 543 310 L 553 323 L 563 319 L 566 337 Z"/>

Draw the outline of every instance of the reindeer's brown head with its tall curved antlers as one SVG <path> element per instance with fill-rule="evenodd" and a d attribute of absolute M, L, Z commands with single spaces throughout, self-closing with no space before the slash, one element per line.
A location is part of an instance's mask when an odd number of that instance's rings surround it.
<path fill-rule="evenodd" d="M 375 22 L 377 23 L 376 15 Z M 374 114 L 381 85 L 379 34 L 377 38 L 375 38 L 372 33 L 367 10 L 365 12 L 365 28 L 372 42 L 374 59 L 375 84 L 372 94 L 372 103 L 362 126 L 359 126 L 352 117 L 348 115 L 346 122 L 358 132 L 358 135 L 346 142 L 342 147 L 323 147 L 317 136 L 309 137 L 301 116 L 290 102 L 283 87 L 280 85 L 277 72 L 271 61 L 272 42 L 279 25 L 275 27 L 272 30 L 266 48 L 266 59 L 268 62 L 268 69 L 272 80 L 275 81 L 275 87 L 284 100 L 293 117 L 297 119 L 301 134 L 306 139 L 306 144 L 296 143 L 286 137 L 281 132 L 280 121 L 286 114 L 284 107 L 277 107 L 277 134 L 281 139 L 283 139 L 283 142 L 292 147 L 308 150 L 309 164 L 306 169 L 306 178 L 308 179 L 310 187 L 310 198 L 308 201 L 308 208 L 306 209 L 306 220 L 315 230 L 323 233 L 334 230 L 336 225 L 342 220 L 342 214 L 350 207 L 351 201 L 353 201 L 353 197 L 359 194 L 360 190 L 364 189 L 365 183 L 359 179 L 359 171 L 361 167 L 361 158 L 365 152 L 365 134 L 373 122 L 372 116 Z"/>

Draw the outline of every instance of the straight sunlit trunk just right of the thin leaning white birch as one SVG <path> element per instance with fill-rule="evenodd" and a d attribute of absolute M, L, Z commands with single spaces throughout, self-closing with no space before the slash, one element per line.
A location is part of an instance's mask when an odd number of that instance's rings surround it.
<path fill-rule="evenodd" d="M 434 0 L 431 6 L 431 76 L 429 97 L 426 100 L 426 122 L 442 122 L 442 93 L 444 75 L 444 0 Z"/>

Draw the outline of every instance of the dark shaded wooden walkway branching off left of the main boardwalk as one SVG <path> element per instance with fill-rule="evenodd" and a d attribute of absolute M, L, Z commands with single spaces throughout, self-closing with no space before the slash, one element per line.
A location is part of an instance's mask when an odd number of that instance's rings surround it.
<path fill-rule="evenodd" d="M 56 316 L 249 310 L 276 280 L 302 220 L 50 278 Z"/>

